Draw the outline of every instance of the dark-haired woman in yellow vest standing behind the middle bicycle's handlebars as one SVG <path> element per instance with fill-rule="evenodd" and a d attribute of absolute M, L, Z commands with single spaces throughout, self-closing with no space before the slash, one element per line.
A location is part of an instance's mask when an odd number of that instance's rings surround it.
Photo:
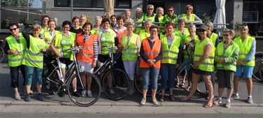
<path fill-rule="evenodd" d="M 104 18 L 102 20 L 102 29 L 100 30 L 100 33 L 98 35 L 98 66 L 102 66 L 103 62 L 109 59 L 109 48 L 108 46 L 117 47 L 118 44 L 118 38 L 116 37 L 116 33 L 109 28 L 109 19 Z M 114 89 L 112 87 L 112 78 L 108 79 L 109 84 L 109 94 L 115 94 Z"/>

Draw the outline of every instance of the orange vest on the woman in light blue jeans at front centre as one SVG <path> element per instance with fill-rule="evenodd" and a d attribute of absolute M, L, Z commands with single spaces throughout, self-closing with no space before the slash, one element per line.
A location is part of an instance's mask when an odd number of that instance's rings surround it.
<path fill-rule="evenodd" d="M 148 38 L 145 38 L 144 40 L 142 40 L 142 45 L 143 45 L 143 50 L 144 50 L 144 54 L 147 55 L 147 57 L 149 57 L 149 59 L 154 59 L 155 57 L 157 57 L 160 53 L 161 50 L 161 40 L 156 39 L 154 46 L 150 47 L 149 45 L 149 41 Z M 144 61 L 143 59 L 140 60 L 140 67 L 141 68 L 149 68 L 149 64 L 147 63 L 147 61 Z M 155 68 L 161 68 L 161 60 L 156 61 L 154 63 L 154 67 Z"/>

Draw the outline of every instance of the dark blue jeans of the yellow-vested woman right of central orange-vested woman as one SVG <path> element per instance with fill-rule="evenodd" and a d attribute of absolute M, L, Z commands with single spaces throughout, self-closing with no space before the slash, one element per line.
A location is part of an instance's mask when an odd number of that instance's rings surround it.
<path fill-rule="evenodd" d="M 161 64 L 161 89 L 174 87 L 175 71 L 175 64 Z"/>

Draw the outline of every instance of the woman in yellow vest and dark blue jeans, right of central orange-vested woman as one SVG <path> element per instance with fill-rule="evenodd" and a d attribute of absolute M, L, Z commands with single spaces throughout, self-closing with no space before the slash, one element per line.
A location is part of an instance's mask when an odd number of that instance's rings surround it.
<path fill-rule="evenodd" d="M 173 88 L 175 86 L 175 71 L 180 66 L 179 49 L 181 38 L 173 33 L 175 24 L 167 22 L 165 24 L 166 35 L 161 37 L 163 47 L 163 57 L 161 59 L 161 98 L 164 101 L 165 91 L 169 88 L 169 99 L 175 101 Z"/>

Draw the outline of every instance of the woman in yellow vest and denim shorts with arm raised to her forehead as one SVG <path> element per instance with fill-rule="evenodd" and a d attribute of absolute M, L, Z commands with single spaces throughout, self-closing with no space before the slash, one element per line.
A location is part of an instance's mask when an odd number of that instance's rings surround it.
<path fill-rule="evenodd" d="M 33 35 L 28 34 L 30 30 L 33 29 Z M 32 79 L 34 73 L 36 74 L 36 91 L 38 94 L 39 101 L 43 101 L 43 96 L 41 95 L 41 84 L 42 84 L 42 73 L 43 73 L 43 52 L 46 52 L 46 48 L 50 45 L 41 39 L 40 36 L 41 26 L 39 24 L 34 25 L 34 27 L 28 27 L 22 31 L 22 35 L 27 41 L 27 48 L 24 52 L 24 57 L 22 59 L 22 64 L 25 65 L 25 91 L 26 98 L 25 101 L 31 101 L 29 96 Z"/>

